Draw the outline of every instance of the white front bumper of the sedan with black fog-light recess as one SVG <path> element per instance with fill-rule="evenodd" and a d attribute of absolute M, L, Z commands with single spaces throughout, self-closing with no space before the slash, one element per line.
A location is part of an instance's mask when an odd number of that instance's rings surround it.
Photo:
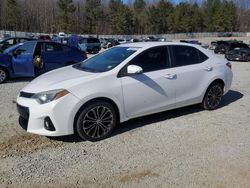
<path fill-rule="evenodd" d="M 82 101 L 69 93 L 55 101 L 39 104 L 35 99 L 18 97 L 19 124 L 27 132 L 45 136 L 63 136 L 74 133 L 74 118 Z M 54 129 L 46 128 L 50 119 Z"/>

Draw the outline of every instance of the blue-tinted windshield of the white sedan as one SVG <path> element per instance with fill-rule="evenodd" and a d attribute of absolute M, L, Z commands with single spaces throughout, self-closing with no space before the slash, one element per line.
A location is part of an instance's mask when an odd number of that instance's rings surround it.
<path fill-rule="evenodd" d="M 73 67 L 89 72 L 106 72 L 127 59 L 139 48 L 114 47 Z"/>

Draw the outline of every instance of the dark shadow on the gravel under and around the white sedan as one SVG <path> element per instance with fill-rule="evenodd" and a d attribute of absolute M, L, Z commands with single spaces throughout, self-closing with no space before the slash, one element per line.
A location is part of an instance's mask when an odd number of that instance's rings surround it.
<path fill-rule="evenodd" d="M 220 108 L 227 106 L 240 98 L 244 95 L 238 91 L 230 90 L 221 101 Z M 136 119 L 129 120 L 127 122 L 121 123 L 116 126 L 113 133 L 109 137 L 113 137 L 119 134 L 123 134 L 124 132 L 128 132 L 142 126 L 157 123 L 161 121 L 165 121 L 167 119 L 178 118 L 188 114 L 194 114 L 197 112 L 203 111 L 203 109 L 199 105 L 192 105 L 183 108 L 178 108 L 175 110 L 169 110 L 161 113 L 156 113 L 148 116 L 139 117 Z M 61 137 L 50 137 L 50 139 L 63 141 L 63 142 L 82 142 L 81 138 L 77 135 L 69 135 L 69 136 L 61 136 Z"/>

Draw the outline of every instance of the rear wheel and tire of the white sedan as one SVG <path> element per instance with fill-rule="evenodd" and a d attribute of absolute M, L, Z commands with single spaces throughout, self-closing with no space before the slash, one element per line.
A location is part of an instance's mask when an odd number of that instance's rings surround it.
<path fill-rule="evenodd" d="M 217 109 L 223 97 L 223 86 L 216 82 L 210 85 L 201 103 L 201 107 L 205 110 Z"/>

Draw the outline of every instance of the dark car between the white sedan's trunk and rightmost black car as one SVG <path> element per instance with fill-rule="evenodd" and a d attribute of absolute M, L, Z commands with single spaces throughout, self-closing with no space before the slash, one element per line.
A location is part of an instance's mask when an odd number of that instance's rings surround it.
<path fill-rule="evenodd" d="M 237 41 L 237 40 L 217 41 L 214 53 L 225 54 L 234 48 L 241 48 L 244 47 L 245 45 L 246 44 L 244 44 L 243 41 Z"/>

